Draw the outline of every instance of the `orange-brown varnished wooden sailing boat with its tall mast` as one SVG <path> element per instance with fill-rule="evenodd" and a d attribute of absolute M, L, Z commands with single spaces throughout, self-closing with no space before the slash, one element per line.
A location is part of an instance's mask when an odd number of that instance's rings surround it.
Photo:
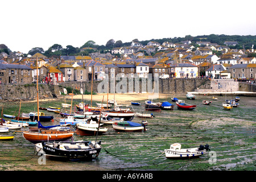
<path fill-rule="evenodd" d="M 37 89 L 37 104 L 38 104 L 38 113 L 35 117 L 38 119 L 38 122 L 41 120 L 39 115 L 39 92 L 38 92 L 38 57 L 36 56 L 36 89 Z M 63 130 L 41 130 L 38 129 L 37 131 L 23 131 L 23 137 L 32 142 L 32 143 L 39 143 L 39 142 L 47 142 L 47 141 L 63 141 L 73 137 L 74 132 L 71 130 L 63 131 Z"/>

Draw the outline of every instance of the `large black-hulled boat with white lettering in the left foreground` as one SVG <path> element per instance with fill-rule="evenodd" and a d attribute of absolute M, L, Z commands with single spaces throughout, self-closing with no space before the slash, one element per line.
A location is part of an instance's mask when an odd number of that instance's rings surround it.
<path fill-rule="evenodd" d="M 52 159 L 88 160 L 97 158 L 101 151 L 101 141 L 77 142 L 40 142 L 35 144 L 35 149 Z"/>

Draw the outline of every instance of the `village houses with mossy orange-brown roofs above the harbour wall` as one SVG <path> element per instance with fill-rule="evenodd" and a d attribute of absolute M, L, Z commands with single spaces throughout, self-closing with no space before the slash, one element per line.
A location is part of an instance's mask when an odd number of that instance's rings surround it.
<path fill-rule="evenodd" d="M 204 44 L 200 42 L 198 44 Z M 155 45 L 156 44 L 156 45 Z M 185 46 L 184 46 L 185 45 Z M 121 77 L 159 77 L 169 75 L 170 78 L 240 78 L 255 80 L 256 59 L 246 57 L 250 50 L 229 49 L 228 46 L 216 46 L 205 43 L 205 47 L 192 51 L 189 43 L 171 45 L 154 56 L 144 56 L 141 44 L 133 43 L 131 47 L 137 52 L 122 53 L 122 57 L 114 57 L 108 53 L 108 59 L 100 53 L 91 56 L 60 56 L 59 59 L 48 58 L 40 53 L 31 57 L 23 57 L 10 63 L 0 60 L 1 84 L 30 84 L 36 81 L 37 74 L 40 82 L 57 84 L 65 81 L 102 80 L 108 75 L 113 78 Z M 150 42 L 148 47 L 161 45 Z M 163 45 L 162 45 L 163 46 Z M 214 48 L 223 51 L 221 57 L 212 53 Z M 113 49 L 114 50 L 114 49 Z M 112 51 L 113 51 L 112 50 Z M 135 49 L 133 49 L 135 50 Z M 38 71 L 36 71 L 36 59 Z"/>

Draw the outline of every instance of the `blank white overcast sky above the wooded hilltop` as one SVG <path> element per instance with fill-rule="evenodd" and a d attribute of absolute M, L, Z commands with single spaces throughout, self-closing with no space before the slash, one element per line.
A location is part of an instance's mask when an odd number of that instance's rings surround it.
<path fill-rule="evenodd" d="M 88 40 L 150 40 L 185 35 L 256 35 L 253 0 L 8 0 L 0 2 L 0 44 L 27 53 Z"/>

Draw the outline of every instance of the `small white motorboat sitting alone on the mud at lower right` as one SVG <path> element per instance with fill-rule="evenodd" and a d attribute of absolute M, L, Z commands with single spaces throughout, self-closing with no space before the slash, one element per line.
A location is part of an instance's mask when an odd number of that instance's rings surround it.
<path fill-rule="evenodd" d="M 164 149 L 166 158 L 195 158 L 210 150 L 208 144 L 196 148 L 182 148 L 180 143 L 171 144 L 170 149 Z"/>

